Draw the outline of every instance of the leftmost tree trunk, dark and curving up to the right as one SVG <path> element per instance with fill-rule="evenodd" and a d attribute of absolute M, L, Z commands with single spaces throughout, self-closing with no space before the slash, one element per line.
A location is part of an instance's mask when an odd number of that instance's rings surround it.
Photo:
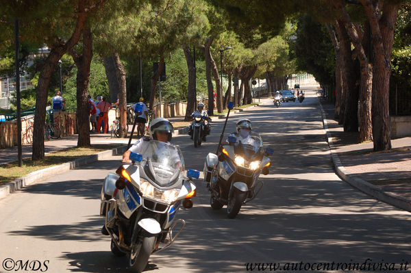
<path fill-rule="evenodd" d="M 79 41 L 86 23 L 87 12 L 84 1 L 79 1 L 77 9 L 77 23 L 71 38 L 67 42 L 61 40 L 50 48 L 49 56 L 40 70 L 38 86 L 36 89 L 36 113 L 34 115 L 33 150 L 32 160 L 45 157 L 45 120 L 47 93 L 51 75 L 61 57 Z"/>

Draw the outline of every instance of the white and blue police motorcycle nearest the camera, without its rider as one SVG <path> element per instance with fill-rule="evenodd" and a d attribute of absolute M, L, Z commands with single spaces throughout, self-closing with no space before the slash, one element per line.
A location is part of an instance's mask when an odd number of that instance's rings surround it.
<path fill-rule="evenodd" d="M 146 147 L 130 154 L 133 164 L 108 174 L 101 189 L 102 233 L 111 236 L 114 255 L 128 256 L 132 272 L 142 272 L 152 253 L 175 242 L 185 226 L 184 220 L 176 220 L 177 212 L 180 205 L 192 207 L 192 179 L 199 177 L 197 170 L 185 172 L 176 146 L 150 140 Z"/>

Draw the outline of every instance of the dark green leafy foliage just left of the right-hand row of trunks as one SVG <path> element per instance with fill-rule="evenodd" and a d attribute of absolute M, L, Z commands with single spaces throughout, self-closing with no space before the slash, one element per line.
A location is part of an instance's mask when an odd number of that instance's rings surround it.
<path fill-rule="evenodd" d="M 324 86 L 332 86 L 335 78 L 335 51 L 329 34 L 311 16 L 298 21 L 297 38 L 290 40 L 297 68 L 314 75 Z"/>

